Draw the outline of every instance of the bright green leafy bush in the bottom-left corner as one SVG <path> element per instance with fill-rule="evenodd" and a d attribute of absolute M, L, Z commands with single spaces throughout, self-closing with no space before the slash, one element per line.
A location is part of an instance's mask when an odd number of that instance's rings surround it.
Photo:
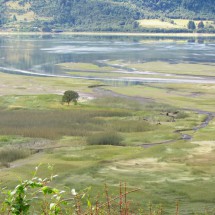
<path fill-rule="evenodd" d="M 37 172 L 38 168 L 36 168 Z M 1 214 L 28 215 L 28 214 L 62 214 L 63 191 L 49 186 L 49 183 L 56 177 L 38 178 L 36 172 L 30 180 L 21 181 L 14 190 L 6 192 L 5 201 L 0 210 Z M 41 209 L 34 209 L 34 201 L 42 201 Z M 38 204 L 37 202 L 37 204 Z M 35 213 L 36 212 L 36 213 Z"/>

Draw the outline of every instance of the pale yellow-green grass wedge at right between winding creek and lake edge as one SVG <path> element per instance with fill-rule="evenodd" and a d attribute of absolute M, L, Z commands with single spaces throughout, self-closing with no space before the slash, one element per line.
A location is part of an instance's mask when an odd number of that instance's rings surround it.
<path fill-rule="evenodd" d="M 158 85 L 160 86 L 160 85 Z M 175 85 L 176 89 L 180 88 L 180 84 Z M 203 88 L 205 84 L 196 84 L 196 89 Z M 206 87 L 206 86 L 205 86 Z M 144 98 L 150 98 L 157 103 L 174 105 L 177 108 L 186 109 L 200 109 L 205 111 L 214 111 L 215 99 L 214 99 L 214 86 L 212 84 L 207 85 L 210 92 L 202 93 L 198 96 L 193 96 L 191 93 L 181 91 L 169 91 L 168 88 L 163 85 L 163 88 L 157 88 L 156 84 L 151 86 L 127 86 L 127 87 L 105 87 L 108 90 L 122 94 L 124 96 L 137 96 Z M 194 89 L 195 90 L 195 89 Z M 195 91 L 194 91 L 195 92 Z M 193 93 L 194 93 L 193 92 Z"/>

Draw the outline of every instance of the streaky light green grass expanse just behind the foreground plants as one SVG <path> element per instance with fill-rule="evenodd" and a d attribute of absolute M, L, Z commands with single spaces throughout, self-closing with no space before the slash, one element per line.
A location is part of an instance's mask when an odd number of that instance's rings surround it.
<path fill-rule="evenodd" d="M 92 186 L 92 195 L 95 195 L 101 193 L 104 183 L 108 184 L 111 191 L 116 191 L 119 182 L 126 181 L 128 189 L 137 185 L 142 189 L 131 198 L 143 208 L 151 201 L 152 204 L 162 204 L 165 215 L 172 215 L 175 203 L 179 200 L 181 210 L 187 211 L 181 214 L 192 214 L 191 211 L 200 213 L 206 206 L 208 209 L 214 206 L 211 189 L 214 182 L 212 177 L 207 180 L 205 178 L 207 174 L 211 174 L 209 172 L 213 171 L 213 166 L 209 170 L 202 165 L 198 156 L 195 159 L 189 158 L 196 147 L 180 141 L 148 149 L 109 145 L 56 148 L 52 154 L 44 154 L 42 157 L 40 155 L 33 163 L 30 160 L 25 168 L 13 168 L 1 175 L 3 180 L 7 178 L 12 183 L 18 176 L 29 177 L 29 171 L 38 162 L 52 163 L 55 165 L 54 174 L 59 175 L 56 184 L 62 188 L 66 186 L 79 191 L 83 187 Z M 198 172 L 193 171 L 196 168 Z M 204 174 L 200 170 L 204 170 Z M 46 177 L 47 169 L 41 168 L 40 175 Z M 183 184 L 188 182 L 192 184 L 192 189 L 184 187 Z M 202 185 L 208 195 L 205 197 L 206 194 L 202 195 L 204 191 L 201 191 L 194 196 L 192 192 L 195 192 L 195 186 Z"/>

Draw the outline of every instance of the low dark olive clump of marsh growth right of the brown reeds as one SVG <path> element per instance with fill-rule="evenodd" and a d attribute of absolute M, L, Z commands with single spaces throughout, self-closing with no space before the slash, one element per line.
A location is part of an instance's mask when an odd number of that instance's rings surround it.
<path fill-rule="evenodd" d="M 119 146 L 122 142 L 122 137 L 115 132 L 106 132 L 94 134 L 88 137 L 87 142 L 91 145 L 115 145 Z"/>

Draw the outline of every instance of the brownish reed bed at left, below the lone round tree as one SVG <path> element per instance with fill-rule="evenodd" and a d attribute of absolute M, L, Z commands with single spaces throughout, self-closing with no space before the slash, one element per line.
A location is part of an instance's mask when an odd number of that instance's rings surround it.
<path fill-rule="evenodd" d="M 31 138 L 58 139 L 62 136 L 86 136 L 103 130 L 98 117 L 123 117 L 125 111 L 0 111 L 0 134 Z"/>

